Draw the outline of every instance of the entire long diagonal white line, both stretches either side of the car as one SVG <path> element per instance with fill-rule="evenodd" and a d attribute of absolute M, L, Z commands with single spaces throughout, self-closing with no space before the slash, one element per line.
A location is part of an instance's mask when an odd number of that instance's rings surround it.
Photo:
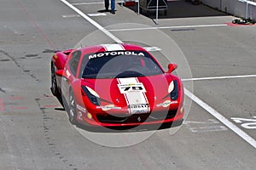
<path fill-rule="evenodd" d="M 80 14 L 85 20 L 88 20 L 93 26 L 96 26 L 99 30 L 104 32 L 108 37 L 112 38 L 115 42 L 122 43 L 119 38 L 113 36 L 112 33 L 107 31 L 105 28 L 100 26 L 96 21 L 91 20 L 90 17 L 88 17 L 86 14 L 84 14 L 82 11 L 80 11 L 78 8 L 75 8 L 71 3 L 68 3 L 66 0 L 61 0 L 62 3 L 65 3 L 68 7 L 72 8 L 75 12 Z M 230 122 L 228 119 L 226 119 L 224 116 L 218 113 L 218 111 L 215 111 L 210 105 L 207 105 L 205 102 L 203 102 L 201 99 L 196 97 L 194 94 L 189 92 L 186 88 L 184 88 L 184 93 L 193 101 L 195 101 L 196 104 L 200 105 L 203 109 L 205 109 L 208 113 L 210 113 L 212 116 L 218 119 L 218 121 L 224 123 L 225 126 L 229 127 L 230 130 L 232 130 L 234 133 L 236 133 L 238 136 L 240 136 L 242 139 L 247 141 L 248 144 L 251 144 L 254 148 L 256 148 L 256 141 L 252 137 L 250 137 L 247 133 L 243 132 L 239 127 L 236 127 L 235 124 Z"/>

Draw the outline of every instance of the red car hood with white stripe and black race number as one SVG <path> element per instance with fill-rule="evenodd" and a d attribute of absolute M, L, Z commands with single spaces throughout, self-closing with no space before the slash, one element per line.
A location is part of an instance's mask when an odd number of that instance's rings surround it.
<path fill-rule="evenodd" d="M 113 79 L 83 79 L 82 85 L 99 95 L 102 105 L 140 105 L 155 103 L 168 95 L 172 75 Z"/>

